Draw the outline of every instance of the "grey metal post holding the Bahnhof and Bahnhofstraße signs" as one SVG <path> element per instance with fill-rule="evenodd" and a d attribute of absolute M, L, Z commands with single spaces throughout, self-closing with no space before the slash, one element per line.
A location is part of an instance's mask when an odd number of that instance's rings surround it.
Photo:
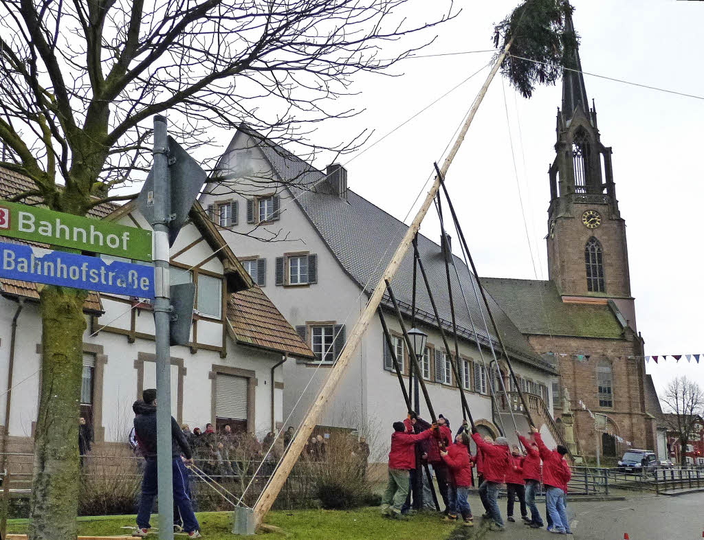
<path fill-rule="evenodd" d="M 159 539 L 173 540 L 171 473 L 171 354 L 169 326 L 169 236 L 171 193 L 168 173 L 166 118 L 154 117 L 154 327 L 156 341 L 156 471 L 159 498 Z"/>

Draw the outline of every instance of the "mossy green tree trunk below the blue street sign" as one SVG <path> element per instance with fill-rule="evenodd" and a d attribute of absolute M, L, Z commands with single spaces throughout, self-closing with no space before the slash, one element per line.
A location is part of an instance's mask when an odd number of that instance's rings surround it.
<path fill-rule="evenodd" d="M 77 535 L 78 418 L 86 328 L 82 290 L 47 285 L 42 312 L 42 388 L 34 430 L 30 540 Z"/>

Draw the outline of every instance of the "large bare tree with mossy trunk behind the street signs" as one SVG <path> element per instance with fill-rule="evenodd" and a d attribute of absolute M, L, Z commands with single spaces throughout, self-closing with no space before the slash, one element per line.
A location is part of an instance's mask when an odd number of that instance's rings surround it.
<path fill-rule="evenodd" d="M 426 22 L 406 20 L 417 4 Z M 25 174 L 30 200 L 86 215 L 146 172 L 151 117 L 192 148 L 246 122 L 312 145 L 318 122 L 358 113 L 358 72 L 383 72 L 432 41 L 451 0 L 0 0 L 0 165 Z M 429 11 L 437 11 L 436 15 Z M 350 150 L 361 139 L 331 145 Z M 139 176 L 139 175 L 138 175 Z M 31 539 L 75 539 L 82 306 L 46 286 L 42 393 L 34 439 Z"/>

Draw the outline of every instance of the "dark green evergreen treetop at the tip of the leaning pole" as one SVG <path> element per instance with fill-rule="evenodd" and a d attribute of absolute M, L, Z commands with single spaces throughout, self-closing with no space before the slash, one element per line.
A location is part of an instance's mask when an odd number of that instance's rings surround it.
<path fill-rule="evenodd" d="M 533 95 L 536 84 L 555 84 L 563 66 L 577 67 L 570 60 L 579 44 L 572 11 L 567 0 L 527 0 L 494 27 L 498 50 L 513 39 L 501 74 L 524 98 Z"/>

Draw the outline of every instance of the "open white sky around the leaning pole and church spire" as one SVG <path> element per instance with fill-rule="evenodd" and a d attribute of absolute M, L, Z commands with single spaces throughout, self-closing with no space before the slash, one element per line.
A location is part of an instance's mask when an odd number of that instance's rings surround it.
<path fill-rule="evenodd" d="M 466 4 L 463 13 L 441 27 L 438 39 L 424 54 L 490 49 L 494 23 L 515 1 L 462 4 Z M 699 68 L 704 2 L 574 0 L 573 4 L 584 71 L 704 96 Z M 344 123 L 331 122 L 314 140 L 338 140 L 341 130 L 351 135 L 371 127 L 376 130 L 372 143 L 490 58 L 491 53 L 418 58 L 397 69 L 403 77 L 358 77 L 356 89 L 362 94 L 353 103 L 365 107 L 365 113 Z M 351 160 L 349 187 L 403 219 L 487 73 L 484 70 L 363 155 L 343 158 L 342 162 Z M 589 75 L 585 82 L 589 100 L 596 100 L 601 140 L 613 147 L 617 198 L 628 226 L 631 288 L 646 354 L 704 355 L 700 149 L 704 100 Z M 463 229 L 480 274 L 547 278 L 543 240 L 549 201 L 547 169 L 554 158 L 560 84 L 539 88 L 529 101 L 504 85 L 505 102 L 499 77 L 489 89 L 448 173 L 448 189 L 461 207 Z M 325 159 L 315 165 L 325 167 Z M 421 230 L 439 238 L 433 212 Z M 704 356 L 699 365 L 693 360 L 687 365 L 683 357 L 679 364 L 673 359 L 658 365 L 651 361 L 646 369 L 658 390 L 677 374 L 704 386 Z"/>

